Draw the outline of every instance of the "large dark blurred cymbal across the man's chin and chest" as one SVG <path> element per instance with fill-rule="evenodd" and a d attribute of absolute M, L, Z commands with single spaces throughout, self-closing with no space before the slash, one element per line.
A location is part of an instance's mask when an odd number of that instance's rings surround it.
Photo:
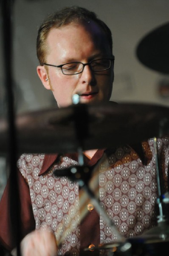
<path fill-rule="evenodd" d="M 16 117 L 19 153 L 70 153 L 137 143 L 169 134 L 169 108 L 107 102 L 22 113 Z M 0 120 L 0 154 L 8 153 L 8 125 Z"/>

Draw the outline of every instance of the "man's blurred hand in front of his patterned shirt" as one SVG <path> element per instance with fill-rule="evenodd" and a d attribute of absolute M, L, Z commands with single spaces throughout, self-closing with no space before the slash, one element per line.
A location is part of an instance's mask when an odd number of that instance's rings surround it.
<path fill-rule="evenodd" d="M 21 242 L 22 256 L 56 256 L 57 251 L 55 236 L 48 231 L 35 230 Z"/>

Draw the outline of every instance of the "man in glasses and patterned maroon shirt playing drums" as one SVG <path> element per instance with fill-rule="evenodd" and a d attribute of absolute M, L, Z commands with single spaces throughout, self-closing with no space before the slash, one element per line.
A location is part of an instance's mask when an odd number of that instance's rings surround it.
<path fill-rule="evenodd" d="M 110 100 L 114 78 L 111 32 L 93 12 L 70 7 L 49 16 L 39 28 L 37 56 L 39 78 L 46 89 L 52 90 L 59 108 L 71 105 L 76 94 L 85 104 Z M 157 197 L 153 140 L 135 149 L 131 145 L 112 146 L 85 151 L 83 156 L 90 172 L 95 167 L 100 169 L 99 200 L 117 233 L 91 202 L 85 206 L 88 214 L 81 218 L 78 183 L 54 175 L 55 170 L 78 166 L 77 154 L 20 157 L 17 165 L 24 256 L 78 255 L 84 248 L 115 241 L 118 236 L 136 236 L 152 227 Z M 168 167 L 164 159 L 169 155 L 168 148 L 167 137 L 158 140 L 163 172 Z M 8 187 L 0 205 L 0 239 L 12 250 L 15 244 L 8 237 L 7 193 Z"/>

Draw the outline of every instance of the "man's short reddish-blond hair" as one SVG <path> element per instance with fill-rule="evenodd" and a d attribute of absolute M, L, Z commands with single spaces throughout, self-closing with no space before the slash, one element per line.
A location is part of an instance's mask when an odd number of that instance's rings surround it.
<path fill-rule="evenodd" d="M 49 15 L 39 27 L 37 35 L 37 58 L 40 65 L 45 63 L 45 58 L 48 53 L 48 46 L 46 44 L 48 34 L 52 28 L 58 28 L 64 25 L 68 25 L 72 22 L 86 23 L 90 20 L 96 22 L 102 31 L 105 33 L 110 49 L 113 49 L 112 34 L 109 27 L 100 20 L 94 12 L 91 12 L 85 8 L 79 6 L 66 7 L 60 11 L 54 12 Z"/>

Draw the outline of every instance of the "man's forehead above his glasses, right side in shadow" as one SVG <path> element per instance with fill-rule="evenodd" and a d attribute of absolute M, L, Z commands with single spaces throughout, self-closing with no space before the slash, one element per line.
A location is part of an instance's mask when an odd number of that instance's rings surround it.
<path fill-rule="evenodd" d="M 94 21 L 70 23 L 59 28 L 52 28 L 48 34 L 48 51 L 63 49 L 79 50 L 93 46 L 101 52 L 111 54 L 110 45 L 104 31 Z"/>

